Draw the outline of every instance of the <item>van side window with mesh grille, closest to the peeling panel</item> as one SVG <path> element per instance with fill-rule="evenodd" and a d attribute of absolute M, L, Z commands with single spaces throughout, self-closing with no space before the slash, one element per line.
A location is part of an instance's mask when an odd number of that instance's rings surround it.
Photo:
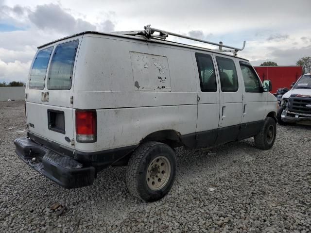
<path fill-rule="evenodd" d="M 195 53 L 195 58 L 199 70 L 201 91 L 217 91 L 215 69 L 212 57 L 208 54 Z"/>

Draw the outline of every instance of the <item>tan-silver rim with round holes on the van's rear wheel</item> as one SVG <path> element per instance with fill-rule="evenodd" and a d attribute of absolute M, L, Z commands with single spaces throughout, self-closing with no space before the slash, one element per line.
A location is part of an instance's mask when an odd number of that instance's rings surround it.
<path fill-rule="evenodd" d="M 164 156 L 158 156 L 148 166 L 146 181 L 151 190 L 160 190 L 169 181 L 171 176 L 171 163 Z"/>

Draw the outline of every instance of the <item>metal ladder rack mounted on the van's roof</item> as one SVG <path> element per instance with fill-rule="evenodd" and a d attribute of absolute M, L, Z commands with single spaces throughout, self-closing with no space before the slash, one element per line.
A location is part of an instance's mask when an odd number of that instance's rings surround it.
<path fill-rule="evenodd" d="M 146 39 L 163 39 L 163 40 L 165 40 L 169 35 L 173 35 L 176 37 L 181 37 L 181 38 L 185 38 L 185 39 L 189 39 L 189 40 L 207 43 L 210 45 L 219 46 L 219 49 L 216 49 L 216 50 L 211 49 L 211 50 L 217 51 L 217 52 L 233 52 L 234 56 L 237 55 L 238 51 L 242 51 L 245 47 L 245 40 L 243 41 L 243 47 L 241 49 L 239 49 L 239 48 L 235 48 L 232 46 L 224 45 L 223 42 L 221 42 L 221 41 L 219 43 L 214 43 L 214 42 L 210 42 L 207 40 L 201 40 L 201 39 L 197 39 L 194 37 L 190 37 L 187 35 L 167 32 L 164 30 L 152 28 L 150 26 L 151 26 L 151 24 L 144 26 L 144 30 L 141 30 L 141 31 L 121 31 L 121 32 L 112 32 L 112 33 L 118 33 L 118 34 L 123 34 L 123 35 L 133 35 L 133 36 L 143 36 Z M 159 34 L 154 34 L 155 32 L 157 32 Z M 174 43 L 177 43 L 177 42 L 174 42 Z M 226 48 L 226 49 L 223 50 L 223 48 Z M 206 48 L 204 48 L 204 49 L 206 49 Z"/>

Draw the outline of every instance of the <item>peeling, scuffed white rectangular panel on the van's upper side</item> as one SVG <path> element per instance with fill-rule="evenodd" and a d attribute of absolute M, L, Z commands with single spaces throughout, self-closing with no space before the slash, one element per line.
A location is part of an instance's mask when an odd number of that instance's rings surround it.
<path fill-rule="evenodd" d="M 130 51 L 138 91 L 172 91 L 167 57 Z"/>

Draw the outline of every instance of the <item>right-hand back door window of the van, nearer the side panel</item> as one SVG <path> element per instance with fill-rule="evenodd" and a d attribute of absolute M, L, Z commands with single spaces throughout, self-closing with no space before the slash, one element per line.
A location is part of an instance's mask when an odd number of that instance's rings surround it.
<path fill-rule="evenodd" d="M 69 90 L 71 88 L 78 44 L 79 40 L 74 40 L 56 47 L 49 68 L 48 89 Z"/>

